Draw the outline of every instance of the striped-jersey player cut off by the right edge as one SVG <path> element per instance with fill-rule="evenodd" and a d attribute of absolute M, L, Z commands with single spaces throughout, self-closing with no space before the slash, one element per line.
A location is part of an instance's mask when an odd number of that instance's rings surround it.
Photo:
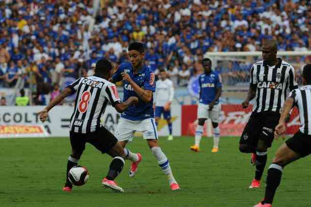
<path fill-rule="evenodd" d="M 303 67 L 302 83 L 304 86 L 293 90 L 283 105 L 279 124 L 275 127 L 275 139 L 279 135 L 284 136 L 286 115 L 293 106 L 299 110 L 300 128 L 277 150 L 268 170 L 265 198 L 254 207 L 271 207 L 275 191 L 281 182 L 283 168 L 311 154 L 311 64 Z"/>

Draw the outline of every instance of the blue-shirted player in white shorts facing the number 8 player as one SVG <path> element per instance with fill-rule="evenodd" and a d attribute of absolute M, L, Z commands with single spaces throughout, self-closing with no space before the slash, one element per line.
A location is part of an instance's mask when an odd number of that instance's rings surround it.
<path fill-rule="evenodd" d="M 145 48 L 141 42 L 132 42 L 128 48 L 128 55 L 131 62 L 122 63 L 109 81 L 118 82 L 123 80 L 124 97 L 127 100 L 134 96 L 139 99 L 135 107 L 129 107 L 121 114 L 115 130 L 118 142 L 124 147 L 126 159 L 131 160 L 129 176 L 133 177 L 141 161 L 141 154 L 133 153 L 125 148 L 131 142 L 136 131 L 142 132 L 143 139 L 156 157 L 159 166 L 165 175 L 168 176 L 171 189 L 179 190 L 170 163 L 166 155 L 158 145 L 158 134 L 156 130 L 153 111 L 153 92 L 155 91 L 155 74 L 143 63 Z"/>

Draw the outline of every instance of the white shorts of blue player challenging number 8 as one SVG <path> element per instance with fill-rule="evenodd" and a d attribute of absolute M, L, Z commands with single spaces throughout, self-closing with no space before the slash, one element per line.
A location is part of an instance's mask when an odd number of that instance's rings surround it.
<path fill-rule="evenodd" d="M 142 121 L 131 121 L 128 119 L 120 118 L 114 135 L 118 141 L 131 142 L 136 131 L 142 132 L 143 139 L 145 140 L 158 139 L 157 127 L 155 125 L 154 118 L 145 119 Z"/>

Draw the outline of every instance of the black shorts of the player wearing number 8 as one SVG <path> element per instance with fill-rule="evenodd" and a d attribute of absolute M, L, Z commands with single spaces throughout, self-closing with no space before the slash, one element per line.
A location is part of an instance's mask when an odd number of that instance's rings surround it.
<path fill-rule="evenodd" d="M 86 134 L 70 131 L 70 144 L 75 151 L 82 153 L 85 149 L 85 143 L 93 145 L 104 154 L 117 143 L 117 139 L 105 127 Z"/>

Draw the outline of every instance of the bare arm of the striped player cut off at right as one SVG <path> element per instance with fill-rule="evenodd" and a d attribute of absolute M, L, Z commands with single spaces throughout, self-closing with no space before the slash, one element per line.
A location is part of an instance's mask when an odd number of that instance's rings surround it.
<path fill-rule="evenodd" d="M 296 101 L 296 90 L 293 90 L 289 97 L 285 100 L 282 107 L 279 124 L 275 127 L 274 138 L 277 139 L 279 135 L 283 135 L 286 131 L 285 123 L 288 120 L 289 113 L 293 106 L 297 103 Z M 284 135 L 283 135 L 284 139 Z"/>

